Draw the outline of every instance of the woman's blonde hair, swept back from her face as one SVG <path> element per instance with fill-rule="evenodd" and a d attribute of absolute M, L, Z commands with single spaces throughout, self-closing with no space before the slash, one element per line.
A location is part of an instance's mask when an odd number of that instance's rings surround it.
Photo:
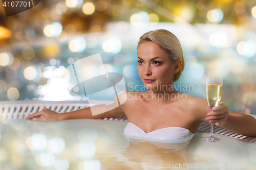
<path fill-rule="evenodd" d="M 141 43 L 153 41 L 157 43 L 168 55 L 170 61 L 175 63 L 178 59 L 181 60 L 180 70 L 174 74 L 174 82 L 179 80 L 181 72 L 184 70 L 185 62 L 183 52 L 178 38 L 167 30 L 155 30 L 143 34 L 138 42 L 137 49 Z"/>

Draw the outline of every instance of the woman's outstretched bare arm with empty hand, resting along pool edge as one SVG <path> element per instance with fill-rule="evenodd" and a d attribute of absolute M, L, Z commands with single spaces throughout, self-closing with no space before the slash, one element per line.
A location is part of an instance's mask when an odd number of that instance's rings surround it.
<path fill-rule="evenodd" d="M 28 117 L 26 117 L 26 119 L 32 118 L 32 120 L 37 120 L 37 121 L 56 121 L 56 120 L 65 120 L 65 119 L 78 119 L 78 118 L 106 118 L 106 117 L 125 116 L 124 112 L 121 109 L 121 106 L 118 106 L 115 108 L 116 102 L 117 102 L 117 97 L 115 98 L 114 102 L 110 104 L 95 105 L 92 107 L 87 107 L 84 109 L 67 112 L 67 113 L 57 113 L 50 109 L 44 108 L 39 112 L 29 115 Z M 97 114 L 93 116 L 91 108 L 92 110 L 97 109 L 98 111 L 101 112 L 101 114 Z"/>

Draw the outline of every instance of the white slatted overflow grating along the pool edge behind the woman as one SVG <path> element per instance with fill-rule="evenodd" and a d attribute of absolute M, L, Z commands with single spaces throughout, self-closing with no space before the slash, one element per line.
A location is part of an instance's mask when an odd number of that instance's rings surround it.
<path fill-rule="evenodd" d="M 92 105 L 107 104 L 110 101 L 90 101 Z M 78 109 L 89 107 L 88 101 L 37 101 L 37 100 L 24 100 L 24 101 L 1 101 L 0 102 L 0 119 L 22 119 L 28 115 L 40 111 L 42 108 L 48 108 L 56 112 L 71 112 Z M 256 118 L 256 115 L 252 115 Z M 111 117 L 104 118 L 104 120 L 118 121 L 127 123 L 127 117 Z M 210 132 L 210 124 L 203 122 L 200 124 L 197 132 L 208 133 Z M 234 140 L 241 140 L 256 144 L 256 136 L 248 137 L 239 133 L 214 126 L 214 134 L 221 135 L 222 137 L 232 138 Z"/>

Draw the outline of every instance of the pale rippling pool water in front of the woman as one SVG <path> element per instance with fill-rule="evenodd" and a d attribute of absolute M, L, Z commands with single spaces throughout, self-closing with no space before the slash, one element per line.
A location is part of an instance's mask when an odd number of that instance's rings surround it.
<path fill-rule="evenodd" d="M 127 140 L 126 123 L 1 119 L 0 169 L 256 169 L 256 145 L 197 133 L 184 143 Z"/>

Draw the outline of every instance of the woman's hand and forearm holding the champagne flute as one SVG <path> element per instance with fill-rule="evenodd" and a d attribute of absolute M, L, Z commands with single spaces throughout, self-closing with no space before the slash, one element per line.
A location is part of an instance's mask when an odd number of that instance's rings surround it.
<path fill-rule="evenodd" d="M 212 111 L 207 107 L 206 111 L 208 112 L 205 118 L 207 122 L 245 136 L 256 136 L 256 119 L 253 116 L 230 111 L 226 103 L 220 103 L 213 107 Z"/>

